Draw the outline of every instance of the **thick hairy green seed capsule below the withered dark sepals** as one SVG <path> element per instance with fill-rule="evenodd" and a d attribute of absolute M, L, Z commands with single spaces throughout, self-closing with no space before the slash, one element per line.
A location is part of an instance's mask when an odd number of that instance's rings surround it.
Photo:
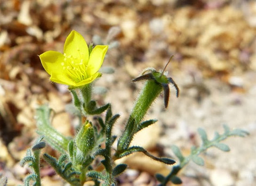
<path fill-rule="evenodd" d="M 123 151 L 129 147 L 139 123 L 142 121 L 149 107 L 153 104 L 162 89 L 161 84 L 157 83 L 155 80 L 148 80 L 146 82 L 135 102 L 132 113 L 125 126 L 125 130 L 118 141 L 118 151 Z"/>

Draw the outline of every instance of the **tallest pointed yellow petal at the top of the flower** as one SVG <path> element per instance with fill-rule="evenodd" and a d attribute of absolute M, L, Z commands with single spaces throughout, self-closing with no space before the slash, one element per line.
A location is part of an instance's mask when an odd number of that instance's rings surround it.
<path fill-rule="evenodd" d="M 89 50 L 83 36 L 75 30 L 72 30 L 64 44 L 63 52 L 71 55 L 80 62 L 83 59 L 85 65 L 89 60 Z"/>

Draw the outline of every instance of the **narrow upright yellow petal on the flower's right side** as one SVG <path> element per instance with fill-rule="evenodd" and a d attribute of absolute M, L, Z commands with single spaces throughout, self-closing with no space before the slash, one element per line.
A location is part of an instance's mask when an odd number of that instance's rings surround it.
<path fill-rule="evenodd" d="M 100 69 L 105 54 L 108 50 L 107 45 L 97 45 L 92 49 L 92 53 L 89 58 L 88 66 L 87 66 L 87 74 L 89 76 L 95 74 Z"/>

